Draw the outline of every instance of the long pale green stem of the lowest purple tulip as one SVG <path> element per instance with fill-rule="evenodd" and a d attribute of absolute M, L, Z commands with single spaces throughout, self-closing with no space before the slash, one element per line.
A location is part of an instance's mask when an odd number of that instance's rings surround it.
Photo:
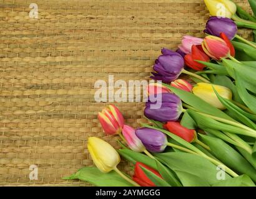
<path fill-rule="evenodd" d="M 193 150 L 190 149 L 186 149 L 184 147 L 178 146 L 176 144 L 172 144 L 172 143 L 167 143 L 167 146 L 179 149 L 179 150 L 183 150 L 184 152 L 189 152 L 190 154 L 195 154 L 195 155 L 200 155 L 202 157 L 204 157 L 205 159 L 209 160 L 210 162 L 212 162 L 213 164 L 219 166 L 222 165 L 222 168 L 225 170 L 225 172 L 227 172 L 228 174 L 230 174 L 232 177 L 238 177 L 239 175 L 237 175 L 233 170 L 229 169 L 229 167 L 225 166 L 224 164 L 222 164 L 222 162 L 219 162 L 219 160 L 215 160 L 212 157 L 209 157 L 208 155 L 202 153 L 202 154 L 198 154 L 197 152 L 194 152 Z"/>

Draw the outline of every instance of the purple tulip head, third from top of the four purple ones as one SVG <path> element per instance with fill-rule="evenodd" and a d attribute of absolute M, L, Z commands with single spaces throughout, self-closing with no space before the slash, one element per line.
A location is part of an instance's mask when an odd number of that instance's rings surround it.
<path fill-rule="evenodd" d="M 153 97 L 148 98 L 148 102 L 145 103 L 144 115 L 149 119 L 155 121 L 167 122 L 177 121 L 182 113 L 182 101 L 173 93 L 162 93 L 162 101 L 150 101 L 155 99 Z M 156 103 L 161 103 L 160 108 L 153 108 Z"/>

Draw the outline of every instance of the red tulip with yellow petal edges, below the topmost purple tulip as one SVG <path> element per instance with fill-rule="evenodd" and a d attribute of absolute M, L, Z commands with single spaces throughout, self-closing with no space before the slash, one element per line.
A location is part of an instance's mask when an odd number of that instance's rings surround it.
<path fill-rule="evenodd" d="M 230 48 L 223 39 L 212 35 L 206 36 L 202 43 L 204 52 L 215 60 L 230 56 Z"/>

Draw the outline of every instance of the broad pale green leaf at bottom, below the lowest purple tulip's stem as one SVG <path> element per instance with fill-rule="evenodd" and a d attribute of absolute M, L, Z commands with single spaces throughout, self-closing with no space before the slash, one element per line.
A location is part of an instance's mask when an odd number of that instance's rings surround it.
<path fill-rule="evenodd" d="M 186 172 L 198 178 L 203 177 L 204 181 L 210 185 L 218 182 L 216 178 L 217 167 L 204 157 L 185 152 L 169 152 L 156 154 L 155 156 L 174 172 L 177 172 L 178 176 L 179 172 Z M 229 174 L 226 174 L 226 177 L 230 178 Z"/>

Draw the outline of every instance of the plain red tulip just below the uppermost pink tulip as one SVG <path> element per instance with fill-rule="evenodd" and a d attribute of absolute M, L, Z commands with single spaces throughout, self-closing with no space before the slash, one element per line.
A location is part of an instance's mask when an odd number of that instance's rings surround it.
<path fill-rule="evenodd" d="M 205 65 L 195 60 L 200 60 L 204 62 L 209 62 L 210 57 L 204 53 L 201 45 L 193 45 L 192 46 L 192 53 L 185 55 L 185 65 L 194 69 L 194 70 L 203 70 Z"/>

